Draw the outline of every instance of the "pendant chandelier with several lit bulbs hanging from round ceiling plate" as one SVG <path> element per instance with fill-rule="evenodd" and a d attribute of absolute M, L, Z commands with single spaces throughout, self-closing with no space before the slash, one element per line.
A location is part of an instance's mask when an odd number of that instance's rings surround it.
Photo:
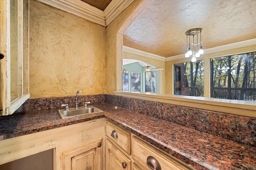
<path fill-rule="evenodd" d="M 200 57 L 200 54 L 204 54 L 204 50 L 202 47 L 202 41 L 201 41 L 201 32 L 202 32 L 202 28 L 193 28 L 190 29 L 188 31 L 186 31 L 186 35 L 187 35 L 187 51 L 185 54 L 185 57 L 188 58 L 192 55 L 192 59 L 191 62 L 195 62 L 197 57 Z M 198 41 L 198 34 L 200 33 L 200 41 Z M 194 42 L 194 36 L 196 35 L 196 42 Z M 189 36 L 189 46 L 188 46 L 188 36 Z M 193 51 L 190 48 L 190 36 L 193 36 Z M 198 49 L 198 44 L 200 44 L 200 47 Z M 196 45 L 196 50 L 195 50 L 195 46 Z"/>

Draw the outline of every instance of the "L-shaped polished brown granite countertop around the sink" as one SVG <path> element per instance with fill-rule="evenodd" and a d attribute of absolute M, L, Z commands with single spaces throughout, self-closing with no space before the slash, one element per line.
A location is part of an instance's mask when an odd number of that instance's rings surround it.
<path fill-rule="evenodd" d="M 103 112 L 61 119 L 58 109 L 49 109 L 0 117 L 0 140 L 105 117 L 196 169 L 256 170 L 254 147 L 108 103 L 93 106 Z"/>

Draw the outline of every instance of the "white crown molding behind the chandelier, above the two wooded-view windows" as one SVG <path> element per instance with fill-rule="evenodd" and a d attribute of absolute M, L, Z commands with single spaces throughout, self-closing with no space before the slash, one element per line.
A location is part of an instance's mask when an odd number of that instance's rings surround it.
<path fill-rule="evenodd" d="M 204 49 L 204 54 L 209 54 L 209 53 L 216 53 L 216 52 L 220 52 L 220 51 L 225 51 L 225 50 L 230 50 L 230 49 L 237 49 L 237 48 L 241 48 L 241 47 L 248 47 L 251 45 L 256 45 L 256 38 L 254 39 L 248 39 L 245 41 L 240 41 L 240 42 L 236 42 L 236 43 L 231 43 L 231 44 L 226 44 L 226 45 L 222 45 L 222 46 L 218 46 L 218 47 L 212 47 L 209 49 Z M 183 59 L 185 57 L 185 54 L 181 54 L 181 55 L 175 55 L 172 57 L 167 57 L 166 61 L 173 61 L 173 60 L 177 60 L 177 59 Z"/>

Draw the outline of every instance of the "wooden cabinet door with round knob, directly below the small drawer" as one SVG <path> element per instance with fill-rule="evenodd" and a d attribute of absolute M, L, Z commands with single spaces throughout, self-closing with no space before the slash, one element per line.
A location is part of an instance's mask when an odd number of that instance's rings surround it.
<path fill-rule="evenodd" d="M 106 140 L 106 170 L 130 170 L 131 160 Z"/>

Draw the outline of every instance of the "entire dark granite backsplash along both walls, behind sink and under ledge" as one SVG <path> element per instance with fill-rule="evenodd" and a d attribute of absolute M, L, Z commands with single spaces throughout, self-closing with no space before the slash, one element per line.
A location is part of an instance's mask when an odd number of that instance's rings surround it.
<path fill-rule="evenodd" d="M 256 118 L 104 94 L 78 97 L 79 106 L 83 106 L 85 102 L 91 102 L 91 104 L 110 103 L 256 147 Z M 61 104 L 75 107 L 76 96 L 28 99 L 16 112 L 56 109 L 61 108 Z"/>

